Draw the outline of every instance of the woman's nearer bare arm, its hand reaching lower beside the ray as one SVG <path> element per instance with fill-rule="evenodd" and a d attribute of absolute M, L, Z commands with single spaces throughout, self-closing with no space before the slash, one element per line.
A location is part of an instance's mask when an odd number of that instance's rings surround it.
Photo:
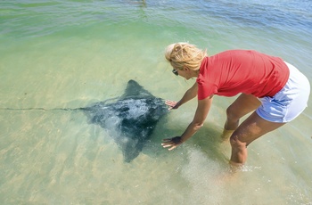
<path fill-rule="evenodd" d="M 202 127 L 204 120 L 207 118 L 212 104 L 212 97 L 213 95 L 207 97 L 206 99 L 198 101 L 198 106 L 193 121 L 190 123 L 190 125 L 186 128 L 185 132 L 181 136 L 164 139 L 164 143 L 161 143 L 161 145 L 164 148 L 169 147 L 168 150 L 171 151 L 175 149 L 179 144 L 184 143 L 187 139 L 193 136 L 196 131 Z"/>

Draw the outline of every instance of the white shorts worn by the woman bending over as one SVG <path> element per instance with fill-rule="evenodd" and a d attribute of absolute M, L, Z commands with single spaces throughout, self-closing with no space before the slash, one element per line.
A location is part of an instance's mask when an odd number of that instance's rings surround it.
<path fill-rule="evenodd" d="M 310 84 L 299 70 L 285 62 L 290 70 L 290 77 L 282 90 L 273 97 L 259 98 L 262 103 L 257 114 L 267 121 L 285 123 L 295 119 L 308 106 Z"/>

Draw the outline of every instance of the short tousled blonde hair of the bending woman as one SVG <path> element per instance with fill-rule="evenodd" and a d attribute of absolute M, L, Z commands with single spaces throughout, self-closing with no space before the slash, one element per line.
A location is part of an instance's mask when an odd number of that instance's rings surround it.
<path fill-rule="evenodd" d="M 183 42 L 168 45 L 165 51 L 167 61 L 178 70 L 183 70 L 185 66 L 194 71 L 200 70 L 201 61 L 206 56 L 206 50 Z"/>

